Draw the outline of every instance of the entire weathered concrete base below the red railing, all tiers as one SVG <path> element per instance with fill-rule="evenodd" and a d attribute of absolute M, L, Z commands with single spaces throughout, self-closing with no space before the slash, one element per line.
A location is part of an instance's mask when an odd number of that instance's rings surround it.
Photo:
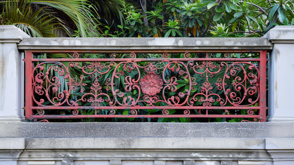
<path fill-rule="evenodd" d="M 293 122 L 0 122 L 0 128 L 0 164 L 294 164 Z"/>

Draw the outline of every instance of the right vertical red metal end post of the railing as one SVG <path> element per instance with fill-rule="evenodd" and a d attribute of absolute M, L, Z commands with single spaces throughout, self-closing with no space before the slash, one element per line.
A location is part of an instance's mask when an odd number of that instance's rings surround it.
<path fill-rule="evenodd" d="M 267 51 L 260 52 L 259 61 L 259 71 L 260 71 L 260 81 L 259 81 L 259 105 L 262 109 L 259 110 L 260 121 L 266 121 L 266 53 Z"/>

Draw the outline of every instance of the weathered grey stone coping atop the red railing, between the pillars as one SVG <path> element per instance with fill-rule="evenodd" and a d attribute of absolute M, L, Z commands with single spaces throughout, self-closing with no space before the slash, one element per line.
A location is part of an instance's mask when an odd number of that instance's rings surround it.
<path fill-rule="evenodd" d="M 267 38 L 24 38 L 18 49 L 151 50 L 258 49 L 271 50 Z"/>

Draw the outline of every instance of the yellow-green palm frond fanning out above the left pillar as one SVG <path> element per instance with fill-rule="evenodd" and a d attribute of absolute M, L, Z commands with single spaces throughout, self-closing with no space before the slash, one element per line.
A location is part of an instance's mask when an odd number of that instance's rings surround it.
<path fill-rule="evenodd" d="M 52 33 L 56 29 L 69 34 L 69 30 L 61 24 L 62 21 L 47 12 L 46 7 L 33 11 L 31 1 L 7 1 L 1 15 L 2 24 L 15 25 L 31 37 L 56 37 Z"/>

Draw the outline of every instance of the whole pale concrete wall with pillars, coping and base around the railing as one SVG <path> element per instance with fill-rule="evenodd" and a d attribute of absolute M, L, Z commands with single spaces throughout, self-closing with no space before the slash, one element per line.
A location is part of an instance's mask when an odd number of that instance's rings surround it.
<path fill-rule="evenodd" d="M 23 122 L 23 51 L 228 50 L 269 53 L 264 123 Z M 294 164 L 294 27 L 263 38 L 29 38 L 0 26 L 0 164 L 246 165 Z"/>

